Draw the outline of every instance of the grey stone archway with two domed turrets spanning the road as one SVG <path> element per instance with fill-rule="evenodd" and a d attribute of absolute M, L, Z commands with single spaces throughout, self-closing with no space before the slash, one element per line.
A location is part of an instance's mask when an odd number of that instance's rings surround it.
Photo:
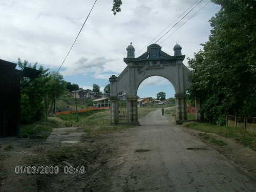
<path fill-rule="evenodd" d="M 116 77 L 110 77 L 111 92 L 111 120 L 112 123 L 118 123 L 118 99 L 117 94 L 120 91 L 126 93 L 127 123 L 138 122 L 137 109 L 137 90 L 140 83 L 151 76 L 162 76 L 168 79 L 174 86 L 176 98 L 176 120 L 186 120 L 186 90 L 191 86 L 187 75 L 191 73 L 182 63 L 185 55 L 181 54 L 180 45 L 175 45 L 174 56 L 161 51 L 161 46 L 152 44 L 147 47 L 147 51 L 141 56 L 135 58 L 135 49 L 131 45 L 127 47 L 127 57 L 124 62 L 127 67 Z"/>

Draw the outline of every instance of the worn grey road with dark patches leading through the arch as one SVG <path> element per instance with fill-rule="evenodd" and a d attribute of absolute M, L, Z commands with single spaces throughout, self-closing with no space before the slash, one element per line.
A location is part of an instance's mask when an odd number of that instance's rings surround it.
<path fill-rule="evenodd" d="M 217 151 L 191 136 L 161 110 L 141 126 L 112 133 L 110 191 L 255 191 L 255 182 Z"/>

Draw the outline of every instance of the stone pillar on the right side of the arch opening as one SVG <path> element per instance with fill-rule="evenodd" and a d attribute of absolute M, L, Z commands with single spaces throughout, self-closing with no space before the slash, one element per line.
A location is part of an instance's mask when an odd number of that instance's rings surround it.
<path fill-rule="evenodd" d="M 176 121 L 187 119 L 186 94 L 175 94 L 176 98 Z"/>

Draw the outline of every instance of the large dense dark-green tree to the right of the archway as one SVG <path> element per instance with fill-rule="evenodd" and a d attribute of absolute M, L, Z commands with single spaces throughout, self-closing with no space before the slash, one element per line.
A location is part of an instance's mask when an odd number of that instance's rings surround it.
<path fill-rule="evenodd" d="M 222 8 L 210 20 L 204 50 L 188 61 L 193 71 L 188 92 L 191 99 L 200 98 L 206 120 L 223 125 L 226 114 L 256 115 L 256 2 L 212 2 Z"/>

